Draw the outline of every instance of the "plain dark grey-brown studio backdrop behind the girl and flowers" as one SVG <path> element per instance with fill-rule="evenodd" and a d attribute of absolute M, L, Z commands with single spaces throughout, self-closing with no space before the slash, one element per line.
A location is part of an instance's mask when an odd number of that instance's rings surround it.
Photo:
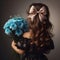
<path fill-rule="evenodd" d="M 18 54 L 11 48 L 11 38 L 5 35 L 4 23 L 13 16 L 26 18 L 26 9 L 33 2 L 48 5 L 50 20 L 54 25 L 53 41 L 55 49 L 47 55 L 49 60 L 60 60 L 60 1 L 59 0 L 0 0 L 0 60 L 19 60 Z"/>

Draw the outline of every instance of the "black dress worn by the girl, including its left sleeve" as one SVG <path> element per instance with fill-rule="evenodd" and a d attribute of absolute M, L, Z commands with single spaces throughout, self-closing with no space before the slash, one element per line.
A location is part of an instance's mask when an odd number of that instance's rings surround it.
<path fill-rule="evenodd" d="M 42 47 L 38 50 L 35 44 L 30 44 L 30 41 L 30 39 L 22 37 L 17 43 L 18 48 L 25 50 L 25 53 L 20 55 L 20 60 L 48 60 L 44 53 L 47 49 L 53 48 Z"/>

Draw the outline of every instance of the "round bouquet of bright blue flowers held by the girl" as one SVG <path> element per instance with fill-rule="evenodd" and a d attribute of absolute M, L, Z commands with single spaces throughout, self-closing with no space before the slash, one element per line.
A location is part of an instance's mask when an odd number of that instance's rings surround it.
<path fill-rule="evenodd" d="M 10 18 L 3 26 L 5 34 L 11 36 L 15 40 L 19 40 L 24 32 L 29 30 L 26 19 L 22 17 Z"/>

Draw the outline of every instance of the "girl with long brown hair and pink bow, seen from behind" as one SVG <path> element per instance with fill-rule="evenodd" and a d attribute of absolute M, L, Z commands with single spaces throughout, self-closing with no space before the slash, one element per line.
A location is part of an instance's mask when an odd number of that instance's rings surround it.
<path fill-rule="evenodd" d="M 32 3 L 27 10 L 29 31 L 22 35 L 22 42 L 12 41 L 12 48 L 21 60 L 48 60 L 44 54 L 54 49 L 52 24 L 49 21 L 49 9 L 43 3 Z"/>

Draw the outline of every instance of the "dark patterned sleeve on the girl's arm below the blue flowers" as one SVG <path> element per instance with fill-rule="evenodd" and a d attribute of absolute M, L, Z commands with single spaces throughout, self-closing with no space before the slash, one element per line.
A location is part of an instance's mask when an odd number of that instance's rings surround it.
<path fill-rule="evenodd" d="M 17 42 L 17 48 L 22 49 L 22 50 L 26 50 L 29 47 L 29 40 L 27 40 L 27 38 L 21 38 L 18 42 Z"/>

